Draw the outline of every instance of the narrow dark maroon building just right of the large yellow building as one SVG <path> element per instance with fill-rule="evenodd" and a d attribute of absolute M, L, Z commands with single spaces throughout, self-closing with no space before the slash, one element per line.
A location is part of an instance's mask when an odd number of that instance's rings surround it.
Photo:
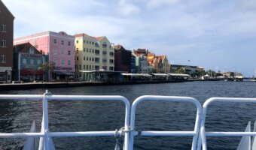
<path fill-rule="evenodd" d="M 114 71 L 131 72 L 132 51 L 126 50 L 121 45 L 114 46 Z"/>

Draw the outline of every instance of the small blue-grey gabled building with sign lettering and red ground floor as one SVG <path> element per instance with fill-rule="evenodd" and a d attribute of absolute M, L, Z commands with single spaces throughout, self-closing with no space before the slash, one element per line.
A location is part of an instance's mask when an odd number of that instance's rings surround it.
<path fill-rule="evenodd" d="M 13 79 L 23 82 L 43 80 L 44 72 L 38 71 L 38 67 L 44 62 L 42 52 L 35 49 L 31 43 L 14 46 Z"/>

